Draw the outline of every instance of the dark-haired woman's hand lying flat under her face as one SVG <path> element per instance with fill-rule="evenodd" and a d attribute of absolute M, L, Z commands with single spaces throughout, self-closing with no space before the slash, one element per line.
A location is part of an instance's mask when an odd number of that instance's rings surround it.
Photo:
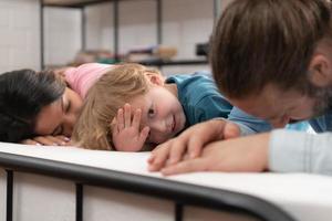
<path fill-rule="evenodd" d="M 39 146 L 66 146 L 70 143 L 70 138 L 58 135 L 58 136 L 38 136 L 30 139 L 24 139 L 20 141 L 23 145 L 39 145 Z"/>

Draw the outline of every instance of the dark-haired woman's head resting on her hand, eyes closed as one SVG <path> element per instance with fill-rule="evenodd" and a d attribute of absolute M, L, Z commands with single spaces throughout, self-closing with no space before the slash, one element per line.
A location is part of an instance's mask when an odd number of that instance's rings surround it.
<path fill-rule="evenodd" d="M 0 141 L 64 145 L 81 106 L 82 98 L 54 72 L 1 74 Z"/>

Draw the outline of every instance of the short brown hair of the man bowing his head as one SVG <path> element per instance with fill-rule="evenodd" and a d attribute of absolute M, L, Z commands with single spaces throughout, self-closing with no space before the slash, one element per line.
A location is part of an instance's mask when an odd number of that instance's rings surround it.
<path fill-rule="evenodd" d="M 308 67 L 318 43 L 331 44 L 326 0 L 235 0 L 211 36 L 219 90 L 243 98 L 267 84 L 309 94 Z"/>

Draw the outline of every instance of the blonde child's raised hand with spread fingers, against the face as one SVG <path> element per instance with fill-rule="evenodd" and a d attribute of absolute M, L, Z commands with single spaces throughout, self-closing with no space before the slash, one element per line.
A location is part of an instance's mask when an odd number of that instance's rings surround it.
<path fill-rule="evenodd" d="M 132 107 L 125 104 L 112 122 L 112 140 L 118 151 L 139 151 L 148 136 L 149 127 L 139 131 L 142 110 L 136 109 L 132 119 Z"/>

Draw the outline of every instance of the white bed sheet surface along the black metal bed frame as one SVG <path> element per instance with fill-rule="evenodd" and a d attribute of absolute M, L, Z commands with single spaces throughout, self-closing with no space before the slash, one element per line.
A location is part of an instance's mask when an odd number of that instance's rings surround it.
<path fill-rule="evenodd" d="M 249 193 L 276 203 L 301 221 L 332 219 L 332 177 L 307 173 L 193 172 L 163 177 L 148 172 L 149 152 L 86 150 L 76 147 L 41 147 L 0 143 L 0 152 L 17 154 L 176 180 Z"/>

